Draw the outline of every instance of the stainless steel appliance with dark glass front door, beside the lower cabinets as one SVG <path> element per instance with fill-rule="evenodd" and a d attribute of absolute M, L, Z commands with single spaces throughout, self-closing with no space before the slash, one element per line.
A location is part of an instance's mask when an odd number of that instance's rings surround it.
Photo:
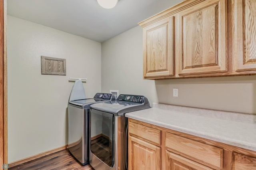
<path fill-rule="evenodd" d="M 95 170 L 127 169 L 125 113 L 150 108 L 140 95 L 119 95 L 116 101 L 90 106 L 90 165 Z"/>

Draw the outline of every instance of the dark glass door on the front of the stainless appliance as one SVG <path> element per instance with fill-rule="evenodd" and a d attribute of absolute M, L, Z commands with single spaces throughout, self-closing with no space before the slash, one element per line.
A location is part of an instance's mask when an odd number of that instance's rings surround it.
<path fill-rule="evenodd" d="M 92 154 L 112 167 L 114 165 L 114 115 L 91 109 L 90 148 Z"/>

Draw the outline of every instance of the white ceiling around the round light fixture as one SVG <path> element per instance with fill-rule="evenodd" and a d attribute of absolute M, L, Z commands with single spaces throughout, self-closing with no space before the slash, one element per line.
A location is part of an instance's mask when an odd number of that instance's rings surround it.
<path fill-rule="evenodd" d="M 7 0 L 8 15 L 104 42 L 182 0 L 119 0 L 112 9 L 97 0 Z"/>

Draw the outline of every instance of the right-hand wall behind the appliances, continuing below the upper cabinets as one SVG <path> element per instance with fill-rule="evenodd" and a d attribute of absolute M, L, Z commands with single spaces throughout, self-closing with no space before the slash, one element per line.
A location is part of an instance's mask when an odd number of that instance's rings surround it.
<path fill-rule="evenodd" d="M 102 91 L 145 95 L 152 102 L 256 113 L 256 76 L 143 80 L 142 28 L 102 43 Z M 172 97 L 178 88 L 179 97 Z"/>

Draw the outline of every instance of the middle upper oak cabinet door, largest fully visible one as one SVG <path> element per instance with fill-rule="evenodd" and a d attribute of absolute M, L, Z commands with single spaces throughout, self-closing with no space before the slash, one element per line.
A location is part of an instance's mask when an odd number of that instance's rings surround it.
<path fill-rule="evenodd" d="M 178 13 L 179 75 L 227 71 L 226 0 L 204 0 Z"/>

